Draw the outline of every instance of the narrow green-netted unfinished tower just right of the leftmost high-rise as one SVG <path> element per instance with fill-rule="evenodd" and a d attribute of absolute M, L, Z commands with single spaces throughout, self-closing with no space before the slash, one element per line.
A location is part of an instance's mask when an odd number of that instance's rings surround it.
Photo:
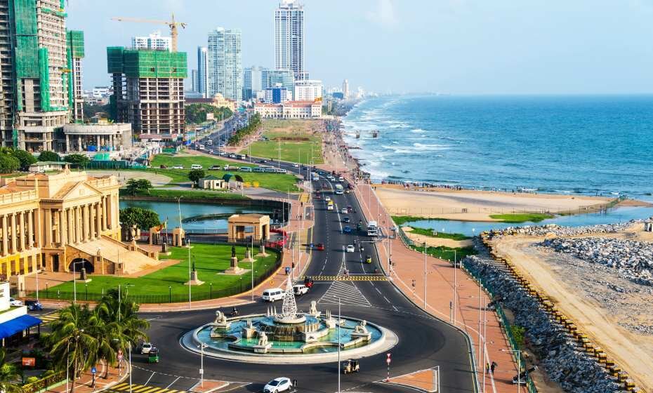
<path fill-rule="evenodd" d="M 84 121 L 84 90 L 81 88 L 81 59 L 84 58 L 84 32 L 70 30 L 66 33 L 68 78 L 68 106 L 72 121 Z"/>

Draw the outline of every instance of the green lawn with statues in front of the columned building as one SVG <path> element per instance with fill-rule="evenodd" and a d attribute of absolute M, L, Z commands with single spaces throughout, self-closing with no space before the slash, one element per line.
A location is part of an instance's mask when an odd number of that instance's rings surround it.
<path fill-rule="evenodd" d="M 187 296 L 188 286 L 184 285 L 188 281 L 188 250 L 187 248 L 171 247 L 169 248 L 171 255 L 163 255 L 161 259 L 171 258 L 180 260 L 176 265 L 165 267 L 164 269 L 157 270 L 146 274 L 143 277 L 125 278 L 114 276 L 94 276 L 91 274 L 92 281 L 86 284 L 88 286 L 88 293 L 103 293 L 110 288 L 117 288 L 118 284 L 131 284 L 128 287 L 130 295 L 161 295 L 162 298 L 167 298 L 169 291 L 173 298 L 180 296 Z M 255 252 L 257 251 L 255 248 Z M 244 258 L 245 247 L 236 246 L 236 255 L 239 259 Z M 268 251 L 268 257 L 254 257 L 254 278 L 263 276 L 265 272 L 272 269 L 275 265 L 277 253 Z M 229 267 L 229 260 L 231 257 L 231 246 L 226 244 L 193 244 L 191 248 L 191 258 L 195 262 L 195 269 L 197 269 L 197 276 L 199 280 L 204 281 L 202 286 L 193 286 L 192 293 L 209 293 L 212 291 L 213 297 L 217 297 L 216 293 L 220 290 L 234 290 L 240 292 L 241 277 L 243 290 L 251 282 L 250 273 L 242 276 L 232 276 L 226 274 L 218 274 Z M 239 267 L 244 269 L 251 269 L 250 262 L 239 262 Z M 211 286 L 211 284 L 213 284 Z M 280 283 L 273 283 L 278 285 Z M 83 283 L 77 283 L 77 298 L 84 299 L 86 293 L 86 286 Z M 169 289 L 170 287 L 170 289 Z M 72 281 L 69 281 L 58 286 L 49 288 L 49 295 L 53 295 L 57 290 L 62 292 L 72 293 Z M 43 292 L 41 292 L 43 293 Z M 89 296 L 89 299 L 91 297 Z M 167 300 L 165 300 L 167 301 Z"/>

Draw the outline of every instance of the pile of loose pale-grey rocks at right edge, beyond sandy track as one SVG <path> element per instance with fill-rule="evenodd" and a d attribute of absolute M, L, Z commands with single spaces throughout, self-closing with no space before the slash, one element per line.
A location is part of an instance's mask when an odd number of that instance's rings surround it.
<path fill-rule="evenodd" d="M 616 269 L 620 277 L 653 286 L 653 244 L 602 237 L 546 239 L 540 246 Z"/>

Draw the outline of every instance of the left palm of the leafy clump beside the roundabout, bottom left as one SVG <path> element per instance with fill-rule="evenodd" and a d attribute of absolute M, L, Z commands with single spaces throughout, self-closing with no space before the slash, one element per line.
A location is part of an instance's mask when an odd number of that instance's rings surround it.
<path fill-rule="evenodd" d="M 97 317 L 87 305 L 72 304 L 61 309 L 59 319 L 52 323 L 52 334 L 48 340 L 50 351 L 60 369 L 72 375 L 74 392 L 75 379 L 79 373 L 95 366 L 98 359 Z"/>

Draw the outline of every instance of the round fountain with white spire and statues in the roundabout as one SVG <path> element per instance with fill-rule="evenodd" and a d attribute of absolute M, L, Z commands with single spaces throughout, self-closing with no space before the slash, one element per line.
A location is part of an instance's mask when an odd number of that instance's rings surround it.
<path fill-rule="evenodd" d="M 303 358 L 305 363 L 333 357 L 338 344 L 341 351 L 348 352 L 345 356 L 361 357 L 387 350 L 396 341 L 396 335 L 381 326 L 351 317 L 334 318 L 329 310 L 318 311 L 315 301 L 308 312 L 299 312 L 290 277 L 281 312 L 268 307 L 265 314 L 227 319 L 218 311 L 215 321 L 183 339 L 191 350 L 207 345 L 204 354 L 213 357 L 266 362 L 291 357 L 294 362 Z"/>

